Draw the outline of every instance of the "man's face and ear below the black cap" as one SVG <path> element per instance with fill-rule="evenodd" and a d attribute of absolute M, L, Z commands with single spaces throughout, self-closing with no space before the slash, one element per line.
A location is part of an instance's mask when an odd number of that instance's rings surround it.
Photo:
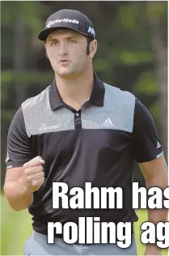
<path fill-rule="evenodd" d="M 87 38 L 78 32 L 58 30 L 49 34 L 46 53 L 56 75 L 75 77 L 89 68 L 97 49 L 97 41 L 92 41 L 87 55 Z"/>

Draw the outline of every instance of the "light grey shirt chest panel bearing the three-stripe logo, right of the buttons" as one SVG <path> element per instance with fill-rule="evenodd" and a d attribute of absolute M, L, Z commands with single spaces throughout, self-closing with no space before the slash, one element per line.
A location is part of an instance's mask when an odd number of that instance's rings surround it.
<path fill-rule="evenodd" d="M 135 96 L 104 83 L 104 106 L 88 108 L 82 113 L 84 129 L 133 131 Z M 91 117 L 91 118 L 89 118 Z"/>

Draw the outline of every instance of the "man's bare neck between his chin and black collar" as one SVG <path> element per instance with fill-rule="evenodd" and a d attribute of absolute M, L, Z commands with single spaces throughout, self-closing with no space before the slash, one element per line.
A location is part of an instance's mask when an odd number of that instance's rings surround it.
<path fill-rule="evenodd" d="M 91 96 L 94 84 L 93 70 L 83 72 L 74 79 L 61 78 L 58 75 L 55 75 L 55 78 L 61 99 L 74 109 L 80 109 Z"/>

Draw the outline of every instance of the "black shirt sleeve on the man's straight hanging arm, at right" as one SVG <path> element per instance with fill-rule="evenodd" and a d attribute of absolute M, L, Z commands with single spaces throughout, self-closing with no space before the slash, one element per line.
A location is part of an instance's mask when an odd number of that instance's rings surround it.
<path fill-rule="evenodd" d="M 132 150 L 137 163 L 148 162 L 163 155 L 154 120 L 137 98 L 133 117 Z"/>

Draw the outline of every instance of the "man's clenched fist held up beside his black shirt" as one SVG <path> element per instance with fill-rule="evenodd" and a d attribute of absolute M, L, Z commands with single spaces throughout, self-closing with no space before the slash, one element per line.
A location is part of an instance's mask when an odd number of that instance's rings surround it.
<path fill-rule="evenodd" d="M 44 183 L 44 160 L 36 156 L 26 164 L 23 164 L 23 184 L 27 191 L 35 192 Z"/>

